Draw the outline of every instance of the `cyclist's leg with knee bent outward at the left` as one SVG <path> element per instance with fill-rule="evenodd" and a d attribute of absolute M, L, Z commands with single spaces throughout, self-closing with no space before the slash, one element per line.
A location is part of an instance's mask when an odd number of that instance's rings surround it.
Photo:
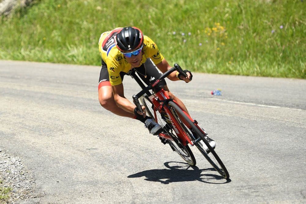
<path fill-rule="evenodd" d="M 124 117 L 134 118 L 135 115 L 133 113 L 129 113 L 122 108 L 119 108 L 114 100 L 114 95 L 112 92 L 112 87 L 110 85 L 110 79 L 107 71 L 106 64 L 102 61 L 102 68 L 100 72 L 99 78 L 99 102 L 103 108 L 112 113 Z"/>

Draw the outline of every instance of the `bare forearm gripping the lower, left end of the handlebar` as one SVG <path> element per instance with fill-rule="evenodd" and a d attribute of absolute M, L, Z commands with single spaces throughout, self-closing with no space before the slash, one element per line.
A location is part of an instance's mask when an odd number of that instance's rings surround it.
<path fill-rule="evenodd" d="M 128 99 L 124 96 L 123 84 L 112 85 L 114 99 L 117 105 L 125 111 L 130 113 L 134 113 L 134 109 L 136 105 L 132 104 Z"/>

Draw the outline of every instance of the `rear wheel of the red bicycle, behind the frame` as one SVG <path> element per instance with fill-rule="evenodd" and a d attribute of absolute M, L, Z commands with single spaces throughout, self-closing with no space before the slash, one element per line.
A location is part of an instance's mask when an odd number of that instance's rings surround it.
<path fill-rule="evenodd" d="M 152 104 L 151 100 L 147 95 L 140 97 L 140 104 L 144 105 L 146 107 L 147 115 L 151 116 L 153 119 L 155 119 L 155 122 L 159 123 L 163 127 L 163 129 L 166 131 L 168 135 L 174 140 L 170 141 L 167 140 L 167 143 L 170 145 L 171 149 L 175 151 L 184 161 L 186 161 L 190 166 L 196 165 L 196 159 L 190 149 L 190 147 L 187 145 L 183 145 L 179 138 L 177 137 L 175 131 L 173 131 L 172 124 L 168 123 L 164 117 L 159 113 L 159 111 L 156 111 L 156 118 L 154 115 L 154 105 Z M 165 133 L 165 132 L 164 132 Z"/>

